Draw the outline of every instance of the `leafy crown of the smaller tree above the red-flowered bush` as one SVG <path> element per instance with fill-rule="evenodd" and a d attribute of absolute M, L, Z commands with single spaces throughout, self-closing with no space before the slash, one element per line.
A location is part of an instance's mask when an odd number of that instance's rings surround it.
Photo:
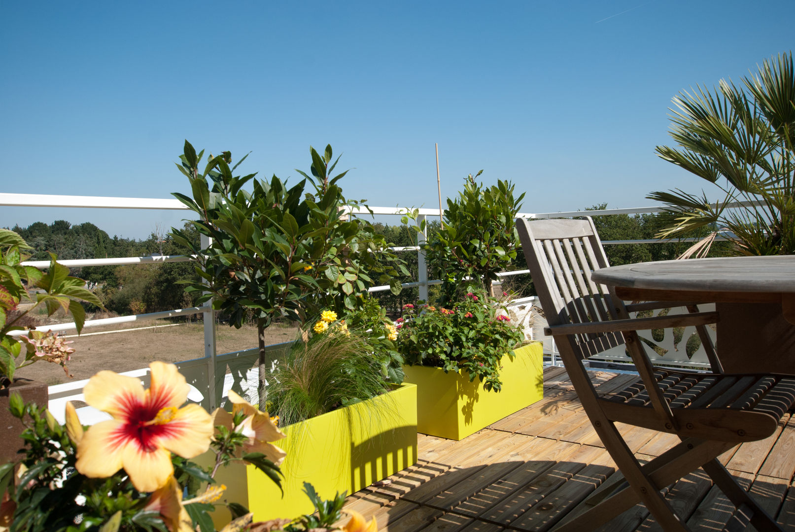
<path fill-rule="evenodd" d="M 458 198 L 447 200 L 444 223 L 423 246 L 429 262 L 444 273 L 444 301 L 452 299 L 467 277 L 491 291 L 491 281 L 516 258 L 519 239 L 514 219 L 525 195 L 514 199 L 514 185 L 502 180 L 483 187 L 475 182 L 481 173 L 467 176 Z M 409 218 L 416 219 L 417 210 L 403 217 L 403 223 Z M 425 224 L 417 229 L 422 231 Z"/>

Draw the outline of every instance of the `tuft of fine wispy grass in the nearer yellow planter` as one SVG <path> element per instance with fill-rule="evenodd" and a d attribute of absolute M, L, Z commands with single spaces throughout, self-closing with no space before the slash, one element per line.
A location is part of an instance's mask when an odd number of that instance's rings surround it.
<path fill-rule="evenodd" d="M 386 390 L 363 333 L 315 334 L 297 340 L 269 379 L 270 414 L 287 426 Z"/>

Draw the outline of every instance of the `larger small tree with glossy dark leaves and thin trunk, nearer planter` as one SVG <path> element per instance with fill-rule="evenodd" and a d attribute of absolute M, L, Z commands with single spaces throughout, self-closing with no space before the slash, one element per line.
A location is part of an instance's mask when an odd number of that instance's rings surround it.
<path fill-rule="evenodd" d="M 314 148 L 311 173 L 287 187 L 276 175 L 270 183 L 256 174 L 235 176 L 242 160 L 230 168 L 231 153 L 210 156 L 204 172 L 199 164 L 204 151 L 185 141 L 180 172 L 188 177 L 192 195 L 175 193 L 190 210 L 200 215 L 193 226 L 211 238 L 207 248 L 195 245 L 184 233 L 172 229 L 174 239 L 188 246 L 206 283 L 190 283 L 188 291 L 204 291 L 198 303 L 212 298 L 212 306 L 224 310 L 230 324 L 242 326 L 246 314 L 257 322 L 259 344 L 259 397 L 266 404 L 266 351 L 264 331 L 274 318 L 304 322 L 322 308 L 356 308 L 357 295 L 378 282 L 400 291 L 397 280 L 401 261 L 369 222 L 348 219 L 346 210 L 361 202 L 349 201 L 336 184 L 347 172 L 331 177 L 332 147 L 323 156 Z M 252 179 L 254 179 L 252 181 Z M 243 186 L 252 181 L 253 191 Z M 305 191 L 312 183 L 314 193 Z"/>

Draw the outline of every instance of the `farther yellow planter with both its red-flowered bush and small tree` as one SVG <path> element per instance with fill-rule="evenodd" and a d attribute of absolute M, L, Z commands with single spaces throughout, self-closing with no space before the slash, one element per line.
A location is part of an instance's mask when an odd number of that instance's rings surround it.
<path fill-rule="evenodd" d="M 422 245 L 442 274 L 440 303 L 409 304 L 397 324 L 406 381 L 417 384 L 417 430 L 461 439 L 543 395 L 539 345 L 516 350 L 522 333 L 494 294 L 492 281 L 517 256 L 514 219 L 524 194 L 498 180 L 484 187 L 470 174 L 448 199 L 440 229 Z M 417 210 L 403 222 L 417 219 Z M 417 231 L 425 231 L 425 220 Z M 504 293 L 503 293 L 504 294 Z"/>

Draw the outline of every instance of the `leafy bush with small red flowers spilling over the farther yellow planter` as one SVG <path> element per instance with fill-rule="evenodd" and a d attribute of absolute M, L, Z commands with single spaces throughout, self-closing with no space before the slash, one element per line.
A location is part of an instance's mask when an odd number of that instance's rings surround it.
<path fill-rule="evenodd" d="M 464 370 L 479 377 L 486 390 L 500 391 L 500 360 L 513 356 L 522 331 L 511 325 L 503 306 L 483 292 L 468 292 L 447 309 L 408 304 L 397 320 L 397 349 L 407 364 L 437 366 L 445 372 Z"/>

